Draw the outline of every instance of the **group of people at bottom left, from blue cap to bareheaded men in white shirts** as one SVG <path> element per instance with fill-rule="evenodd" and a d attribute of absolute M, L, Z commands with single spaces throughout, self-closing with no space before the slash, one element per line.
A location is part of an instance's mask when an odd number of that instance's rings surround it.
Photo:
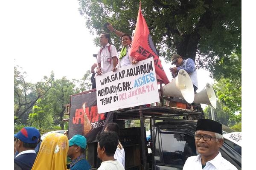
<path fill-rule="evenodd" d="M 109 123 L 97 136 L 99 170 L 124 170 L 125 151 L 119 141 L 119 125 Z M 35 151 L 39 145 L 38 152 Z M 85 155 L 87 139 L 79 134 L 49 133 L 43 141 L 35 127 L 23 127 L 14 135 L 15 170 L 90 170 Z M 70 160 L 70 161 L 69 161 Z"/>

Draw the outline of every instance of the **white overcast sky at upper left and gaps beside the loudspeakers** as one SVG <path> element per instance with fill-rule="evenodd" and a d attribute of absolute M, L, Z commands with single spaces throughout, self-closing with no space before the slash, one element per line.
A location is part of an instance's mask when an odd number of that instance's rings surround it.
<path fill-rule="evenodd" d="M 81 79 L 95 62 L 93 54 L 97 54 L 99 47 L 93 44 L 96 35 L 89 33 L 84 17 L 79 14 L 79 4 L 67 0 L 18 3 L 19 8 L 15 10 L 19 14 L 12 24 L 19 29 L 12 34 L 16 39 L 12 55 L 14 65 L 26 71 L 26 81 L 38 82 L 44 76 L 49 77 L 51 71 L 55 79 L 63 76 L 70 80 Z M 169 68 L 172 65 L 161 60 L 171 81 Z M 198 70 L 198 91 L 207 82 L 213 83 L 209 73 Z"/>

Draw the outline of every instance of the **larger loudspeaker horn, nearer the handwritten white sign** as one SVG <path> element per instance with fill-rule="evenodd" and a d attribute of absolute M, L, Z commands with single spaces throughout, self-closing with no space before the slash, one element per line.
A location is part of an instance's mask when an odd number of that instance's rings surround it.
<path fill-rule="evenodd" d="M 195 92 L 189 74 L 180 69 L 177 77 L 163 86 L 163 95 L 179 97 L 185 99 L 188 103 L 192 103 L 195 98 Z"/>

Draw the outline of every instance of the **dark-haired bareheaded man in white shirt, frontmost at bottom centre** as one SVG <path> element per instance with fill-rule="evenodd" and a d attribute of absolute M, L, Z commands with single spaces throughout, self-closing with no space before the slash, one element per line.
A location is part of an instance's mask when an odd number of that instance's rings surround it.
<path fill-rule="evenodd" d="M 114 153 L 118 144 L 116 132 L 102 132 L 96 137 L 98 142 L 97 153 L 102 163 L 98 170 L 125 170 L 123 165 L 114 159 Z"/>

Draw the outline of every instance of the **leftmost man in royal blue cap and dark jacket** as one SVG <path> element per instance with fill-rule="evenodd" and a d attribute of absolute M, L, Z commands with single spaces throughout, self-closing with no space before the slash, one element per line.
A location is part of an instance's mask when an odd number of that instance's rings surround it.
<path fill-rule="evenodd" d="M 22 170 L 31 170 L 35 158 L 35 147 L 38 144 L 40 133 L 35 127 L 23 127 L 14 135 L 14 147 L 19 152 L 14 158 Z"/>

